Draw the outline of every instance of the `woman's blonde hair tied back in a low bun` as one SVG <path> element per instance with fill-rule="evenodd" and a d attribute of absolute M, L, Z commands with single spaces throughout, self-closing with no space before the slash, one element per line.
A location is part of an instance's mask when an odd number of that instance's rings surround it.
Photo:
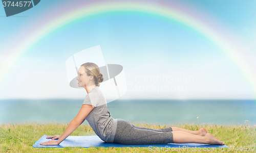
<path fill-rule="evenodd" d="M 103 81 L 103 77 L 99 71 L 98 65 L 96 65 L 95 63 L 87 62 L 82 64 L 81 66 L 86 69 L 87 76 L 93 75 L 95 85 L 99 87 L 100 83 Z"/>

